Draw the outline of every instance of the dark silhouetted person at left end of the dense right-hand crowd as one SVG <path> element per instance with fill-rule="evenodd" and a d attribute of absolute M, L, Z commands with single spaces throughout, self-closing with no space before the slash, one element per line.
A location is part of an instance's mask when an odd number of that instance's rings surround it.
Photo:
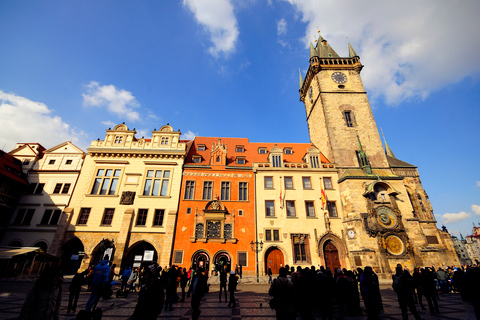
<path fill-rule="evenodd" d="M 279 275 L 275 278 L 268 290 L 270 308 L 275 309 L 277 320 L 295 320 L 297 313 L 294 308 L 293 283 L 287 279 L 287 270 L 281 267 Z"/>

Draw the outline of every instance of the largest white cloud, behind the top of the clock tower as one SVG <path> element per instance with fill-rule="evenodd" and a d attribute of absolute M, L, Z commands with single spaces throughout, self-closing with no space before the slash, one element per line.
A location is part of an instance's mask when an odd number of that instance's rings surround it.
<path fill-rule="evenodd" d="M 340 56 L 348 54 L 348 36 L 365 65 L 365 86 L 386 103 L 424 99 L 480 75 L 478 0 L 284 1 L 307 23 L 306 49 L 317 26 Z"/>

